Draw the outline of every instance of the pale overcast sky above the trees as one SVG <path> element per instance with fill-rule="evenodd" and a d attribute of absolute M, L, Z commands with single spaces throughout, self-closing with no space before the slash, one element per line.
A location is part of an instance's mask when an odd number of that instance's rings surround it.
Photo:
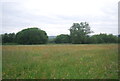
<path fill-rule="evenodd" d="M 118 34 L 119 0 L 1 0 L 0 33 L 38 27 L 48 36 L 69 34 L 73 23 L 88 22 L 93 34 Z"/>

